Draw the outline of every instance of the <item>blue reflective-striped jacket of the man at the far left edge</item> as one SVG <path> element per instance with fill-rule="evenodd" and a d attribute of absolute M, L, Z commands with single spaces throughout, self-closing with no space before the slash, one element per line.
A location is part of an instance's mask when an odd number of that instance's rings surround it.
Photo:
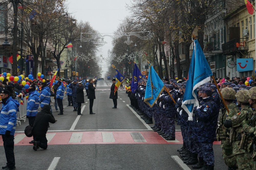
<path fill-rule="evenodd" d="M 0 134 L 5 134 L 6 130 L 11 131 L 14 135 L 17 121 L 17 111 L 19 102 L 9 97 L 5 104 L 2 105 L 0 114 Z"/>

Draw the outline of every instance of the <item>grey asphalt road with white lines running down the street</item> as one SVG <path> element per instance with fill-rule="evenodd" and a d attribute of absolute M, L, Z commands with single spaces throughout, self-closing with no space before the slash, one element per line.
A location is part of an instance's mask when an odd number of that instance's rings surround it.
<path fill-rule="evenodd" d="M 113 101 L 109 99 L 111 84 L 111 80 L 98 81 L 94 115 L 89 114 L 86 96 L 86 103 L 82 104 L 84 115 L 78 116 L 72 111 L 73 107 L 65 107 L 64 115 L 54 112 L 58 122 L 48 128 L 47 150 L 34 151 L 33 144 L 28 143 L 32 138 L 23 133 L 28 121 L 16 127 L 16 170 L 190 169 L 190 165 L 180 162 L 176 151 L 182 147 L 180 127 L 176 125 L 176 140 L 166 141 L 128 106 L 130 100 L 123 89 L 118 90 L 118 108 L 112 109 Z M 67 103 L 63 100 L 64 106 Z M 6 163 L 2 139 L 0 153 L 2 166 Z M 214 153 L 215 169 L 226 169 L 219 142 L 215 142 Z"/>

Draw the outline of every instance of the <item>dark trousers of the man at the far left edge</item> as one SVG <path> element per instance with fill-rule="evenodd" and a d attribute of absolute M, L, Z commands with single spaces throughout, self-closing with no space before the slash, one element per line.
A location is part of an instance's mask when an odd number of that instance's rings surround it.
<path fill-rule="evenodd" d="M 6 156 L 6 165 L 13 169 L 15 166 L 15 158 L 14 158 L 14 135 L 6 136 L 2 135 L 4 142 L 4 152 Z"/>

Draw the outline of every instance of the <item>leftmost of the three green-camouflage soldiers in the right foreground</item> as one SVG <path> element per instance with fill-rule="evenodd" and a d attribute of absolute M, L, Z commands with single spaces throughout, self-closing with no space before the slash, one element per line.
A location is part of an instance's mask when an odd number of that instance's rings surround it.
<path fill-rule="evenodd" d="M 217 128 L 217 140 L 221 141 L 220 147 L 222 148 L 222 158 L 229 169 L 235 169 L 237 167 L 236 156 L 232 154 L 232 143 L 229 142 L 229 130 L 224 126 L 224 122 L 227 117 L 233 117 L 233 115 L 239 112 L 237 105 L 233 102 L 236 98 L 236 92 L 232 88 L 225 87 L 221 90 L 222 96 L 227 104 L 229 112 L 225 106 L 222 108 L 222 115 L 220 117 L 220 126 Z"/>

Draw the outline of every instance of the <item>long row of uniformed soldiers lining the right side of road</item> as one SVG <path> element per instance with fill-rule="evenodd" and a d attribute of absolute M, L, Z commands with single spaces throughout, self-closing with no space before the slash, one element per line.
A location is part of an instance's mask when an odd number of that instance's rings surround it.
<path fill-rule="evenodd" d="M 188 114 L 182 106 L 186 82 L 170 80 L 165 84 L 174 101 L 163 91 L 151 108 L 144 102 L 146 82 L 140 81 L 136 92 L 128 93 L 131 107 L 147 124 L 153 123 L 155 132 L 166 140 L 175 140 L 175 117 L 180 125 L 183 147 L 180 152 L 184 163 L 193 165 L 193 169 L 214 169 L 214 152 L 212 144 L 216 140 L 220 96 L 216 86 L 206 83 L 197 88 L 199 106 L 194 108 L 193 120 L 188 121 Z M 256 126 L 256 87 L 235 91 L 223 88 L 221 93 L 228 110 L 223 105 L 220 126 L 217 128 L 217 139 L 221 141 L 223 159 L 228 169 L 256 169 L 256 146 L 254 128 Z M 239 110 L 241 109 L 241 111 Z M 153 118 L 152 118 L 153 117 Z M 254 120 L 255 119 L 255 120 Z M 255 128 L 256 129 L 256 128 Z M 253 144 L 254 143 L 254 144 Z M 255 151 L 254 151 L 255 150 Z"/>

